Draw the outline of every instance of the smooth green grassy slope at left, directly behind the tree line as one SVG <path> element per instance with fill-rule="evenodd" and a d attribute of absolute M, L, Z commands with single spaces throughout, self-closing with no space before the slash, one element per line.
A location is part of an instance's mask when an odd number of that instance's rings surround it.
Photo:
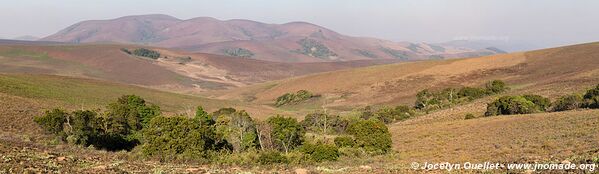
<path fill-rule="evenodd" d="M 103 106 L 114 98 L 125 94 L 135 94 L 147 98 L 152 103 L 163 106 L 166 111 L 184 110 L 187 109 L 187 106 L 200 103 L 211 108 L 233 105 L 229 101 L 96 80 L 47 75 L 0 75 L 0 92 L 85 108 Z"/>

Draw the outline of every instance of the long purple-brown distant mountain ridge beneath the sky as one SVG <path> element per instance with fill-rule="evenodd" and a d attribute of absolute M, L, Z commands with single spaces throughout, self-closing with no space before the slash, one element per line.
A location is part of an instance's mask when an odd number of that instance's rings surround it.
<path fill-rule="evenodd" d="M 351 37 L 307 22 L 266 24 L 210 17 L 182 20 L 162 14 L 83 21 L 41 41 L 146 44 L 277 62 L 426 60 L 500 53 L 495 49 Z"/>

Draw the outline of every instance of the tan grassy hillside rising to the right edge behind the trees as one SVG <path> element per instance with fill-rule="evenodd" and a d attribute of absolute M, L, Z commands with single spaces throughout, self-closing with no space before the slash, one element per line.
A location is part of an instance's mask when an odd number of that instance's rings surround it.
<path fill-rule="evenodd" d="M 272 104 L 284 93 L 306 89 L 323 94 L 329 107 L 411 105 L 416 93 L 423 89 L 481 86 L 489 80 L 501 79 L 518 92 L 556 97 L 599 81 L 597 49 L 599 43 L 589 43 L 479 58 L 370 66 L 294 77 L 212 95 L 223 99 L 249 97 Z"/>

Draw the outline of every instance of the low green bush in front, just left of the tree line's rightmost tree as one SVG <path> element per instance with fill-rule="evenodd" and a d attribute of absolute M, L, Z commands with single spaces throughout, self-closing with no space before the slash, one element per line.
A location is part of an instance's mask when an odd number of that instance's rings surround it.
<path fill-rule="evenodd" d="M 339 158 L 338 148 L 329 144 L 306 143 L 300 147 L 300 151 L 316 162 L 336 161 Z"/>

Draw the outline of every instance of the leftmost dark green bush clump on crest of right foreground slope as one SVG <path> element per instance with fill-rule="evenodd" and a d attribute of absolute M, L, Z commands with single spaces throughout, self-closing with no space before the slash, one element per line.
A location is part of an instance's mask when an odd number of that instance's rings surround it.
<path fill-rule="evenodd" d="M 487 104 L 485 116 L 530 114 L 540 112 L 539 106 L 522 96 L 503 96 Z"/>

